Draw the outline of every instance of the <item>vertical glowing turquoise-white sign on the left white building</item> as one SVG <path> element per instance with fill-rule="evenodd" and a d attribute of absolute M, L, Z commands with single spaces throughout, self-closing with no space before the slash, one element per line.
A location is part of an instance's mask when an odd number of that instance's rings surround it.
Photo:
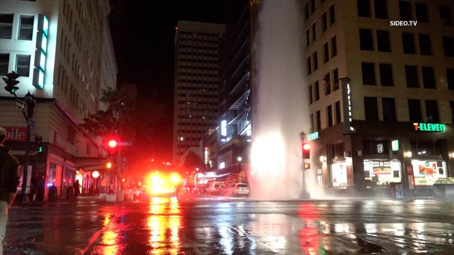
<path fill-rule="evenodd" d="M 47 20 L 47 17 L 44 14 L 39 14 L 38 32 L 36 32 L 35 70 L 33 73 L 33 86 L 35 86 L 37 89 L 44 88 L 48 30 L 49 21 Z"/>

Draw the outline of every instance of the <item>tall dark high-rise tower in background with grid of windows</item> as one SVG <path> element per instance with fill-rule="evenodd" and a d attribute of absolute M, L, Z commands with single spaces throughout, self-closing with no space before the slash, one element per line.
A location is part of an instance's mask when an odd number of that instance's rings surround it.
<path fill-rule="evenodd" d="M 218 120 L 218 43 L 222 24 L 179 21 L 175 34 L 173 161 L 198 147 Z"/>

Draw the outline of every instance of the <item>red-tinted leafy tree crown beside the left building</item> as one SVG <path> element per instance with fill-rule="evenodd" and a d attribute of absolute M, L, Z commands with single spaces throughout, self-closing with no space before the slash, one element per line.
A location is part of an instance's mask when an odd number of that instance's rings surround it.
<path fill-rule="evenodd" d="M 164 117 L 164 107 L 156 102 L 155 96 L 136 102 L 125 88 L 102 90 L 100 101 L 107 109 L 90 114 L 80 124 L 93 138 L 118 136 L 123 141 L 132 141 L 139 131 L 151 139 L 154 126 Z"/>

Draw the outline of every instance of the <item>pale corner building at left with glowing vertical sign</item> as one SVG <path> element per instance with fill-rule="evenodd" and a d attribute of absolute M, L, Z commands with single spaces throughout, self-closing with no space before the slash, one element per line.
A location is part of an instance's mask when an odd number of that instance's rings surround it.
<path fill-rule="evenodd" d="M 17 96 L 23 100 L 30 91 L 37 101 L 31 141 L 41 136 L 42 152 L 31 153 L 28 180 L 36 172 L 62 197 L 74 179 L 83 190 L 91 183 L 107 185 L 93 182 L 88 171 L 101 169 L 86 168 L 87 160 L 100 163 L 95 159 L 103 150 L 79 124 L 105 109 L 99 105 L 101 89 L 116 86 L 109 12 L 108 0 L 0 2 L 0 76 L 20 74 Z M 7 147 L 23 165 L 27 124 L 5 85 L 0 80 L 0 126 L 6 127 Z"/>

